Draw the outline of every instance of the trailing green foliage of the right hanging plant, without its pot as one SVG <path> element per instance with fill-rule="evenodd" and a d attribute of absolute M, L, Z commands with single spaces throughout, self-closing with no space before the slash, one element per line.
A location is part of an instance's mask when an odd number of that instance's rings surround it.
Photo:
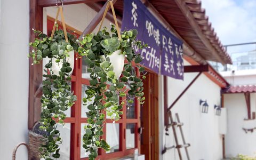
<path fill-rule="evenodd" d="M 113 122 L 121 118 L 125 102 L 121 102 L 119 98 L 128 97 L 128 105 L 132 105 L 134 102 L 133 97 L 136 97 L 141 104 L 145 100 L 141 77 L 146 78 L 146 76 L 140 73 L 145 71 L 145 68 L 136 65 L 139 71 L 137 72 L 132 63 L 142 61 L 141 55 L 136 54 L 133 48 L 142 49 L 147 47 L 147 44 L 136 41 L 137 34 L 138 31 L 135 29 L 124 31 L 122 39 L 118 39 L 117 31 L 112 26 L 111 33 L 103 28 L 96 35 L 86 35 L 78 42 L 79 58 L 85 59 L 91 78 L 90 86 L 87 86 L 85 91 L 86 97 L 83 98 L 84 106 L 89 109 L 86 112 L 88 124 L 84 128 L 85 134 L 83 135 L 83 148 L 86 149 L 86 152 L 90 152 L 89 159 L 98 156 L 98 148 L 110 149 L 107 142 L 101 138 L 104 134 L 105 113 Z M 108 55 L 117 50 L 121 50 L 127 59 L 121 78 L 116 77 L 114 68 L 108 59 Z"/>

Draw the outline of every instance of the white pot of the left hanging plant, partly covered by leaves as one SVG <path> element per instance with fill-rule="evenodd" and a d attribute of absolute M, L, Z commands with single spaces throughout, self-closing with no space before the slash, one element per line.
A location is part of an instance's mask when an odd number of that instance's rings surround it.
<path fill-rule="evenodd" d="M 74 70 L 75 54 L 74 54 L 74 51 L 70 51 L 68 52 L 68 54 L 69 54 L 69 57 L 66 57 L 66 61 L 70 63 L 69 67 L 72 68 L 72 71 L 70 73 L 71 75 Z M 60 71 L 60 68 L 62 67 L 63 60 L 61 60 L 59 63 L 56 63 L 55 60 L 56 60 L 55 58 L 52 58 L 52 71 L 54 75 L 59 76 L 60 75 L 59 71 Z"/>

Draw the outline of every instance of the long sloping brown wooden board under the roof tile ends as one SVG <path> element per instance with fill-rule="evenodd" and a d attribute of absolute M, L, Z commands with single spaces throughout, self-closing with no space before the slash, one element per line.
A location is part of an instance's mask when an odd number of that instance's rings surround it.
<path fill-rule="evenodd" d="M 211 42 L 206 38 L 206 36 L 202 33 L 201 28 L 199 27 L 198 23 L 196 22 L 194 16 L 192 15 L 192 13 L 190 12 L 190 10 L 188 9 L 188 7 L 186 6 L 186 3 L 184 1 L 181 0 L 174 0 L 177 5 L 179 6 L 180 10 L 183 12 L 183 14 L 186 16 L 188 22 L 190 23 L 191 27 L 194 28 L 196 34 L 198 35 L 198 37 L 202 40 L 202 42 L 204 43 L 204 45 L 212 52 L 212 54 L 214 55 L 214 57 L 216 57 L 216 59 L 223 64 L 225 64 L 226 62 L 220 57 L 220 55 L 218 54 L 218 52 L 215 50 L 215 48 L 212 46 Z M 208 19 L 208 18 L 206 18 Z"/>

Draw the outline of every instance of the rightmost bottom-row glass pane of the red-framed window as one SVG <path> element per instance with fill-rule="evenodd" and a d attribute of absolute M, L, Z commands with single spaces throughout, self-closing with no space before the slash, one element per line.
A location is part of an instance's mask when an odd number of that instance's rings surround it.
<path fill-rule="evenodd" d="M 125 131 L 126 149 L 135 148 L 135 123 L 127 123 Z"/>

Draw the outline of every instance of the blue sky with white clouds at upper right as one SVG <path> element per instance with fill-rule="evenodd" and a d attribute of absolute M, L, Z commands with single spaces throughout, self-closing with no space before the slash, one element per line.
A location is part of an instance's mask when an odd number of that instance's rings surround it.
<path fill-rule="evenodd" d="M 256 0 L 201 0 L 223 45 L 256 42 Z M 255 50 L 256 45 L 236 47 Z M 229 50 L 228 50 L 229 51 Z M 230 52 L 235 52 L 234 49 Z"/>

